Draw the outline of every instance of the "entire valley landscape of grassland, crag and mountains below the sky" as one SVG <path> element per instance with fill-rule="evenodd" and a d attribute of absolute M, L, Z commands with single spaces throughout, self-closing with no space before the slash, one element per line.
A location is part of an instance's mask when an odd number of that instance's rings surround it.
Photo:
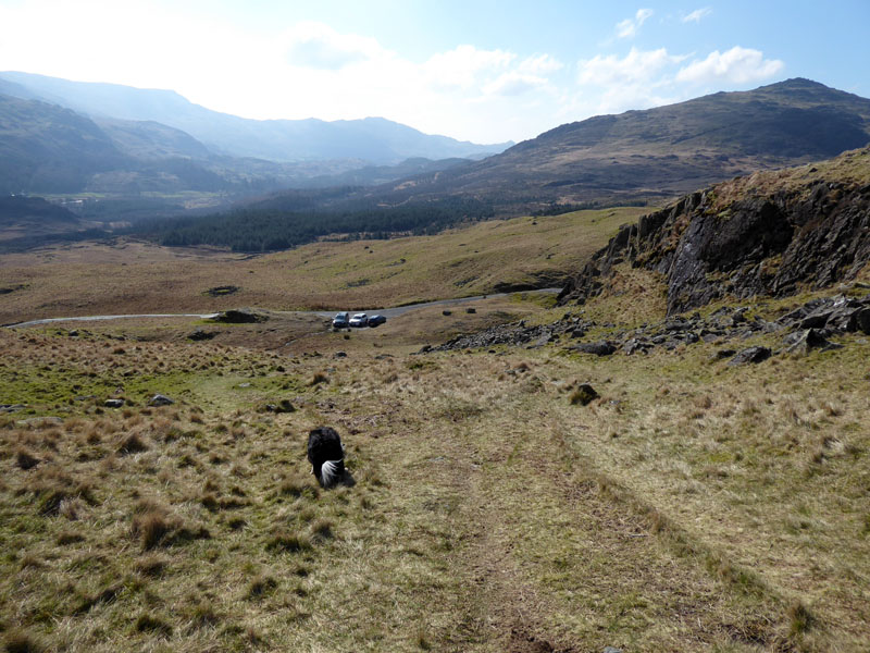
<path fill-rule="evenodd" d="M 0 93 L 3 650 L 867 650 L 870 100 L 788 79 L 477 160 Z M 39 322 L 89 316 L 127 317 Z"/>

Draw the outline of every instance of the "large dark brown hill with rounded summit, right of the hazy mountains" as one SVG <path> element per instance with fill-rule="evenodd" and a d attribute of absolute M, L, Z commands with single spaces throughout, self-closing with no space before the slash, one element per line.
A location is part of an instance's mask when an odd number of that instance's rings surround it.
<path fill-rule="evenodd" d="M 754 170 L 870 141 L 870 100 L 807 79 L 562 125 L 501 155 L 381 188 L 384 200 L 443 194 L 521 212 L 549 202 L 672 197 Z"/>

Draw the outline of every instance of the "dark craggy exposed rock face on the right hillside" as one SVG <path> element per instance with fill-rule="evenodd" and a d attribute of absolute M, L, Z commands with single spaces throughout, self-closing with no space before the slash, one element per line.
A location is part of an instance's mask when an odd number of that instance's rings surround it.
<path fill-rule="evenodd" d="M 870 161 L 870 149 L 857 159 Z M 668 315 L 724 296 L 783 296 L 854 279 L 870 261 L 870 184 L 815 180 L 761 196 L 725 185 L 683 197 L 625 225 L 562 289 L 559 301 L 599 294 L 625 260 L 663 275 Z"/>

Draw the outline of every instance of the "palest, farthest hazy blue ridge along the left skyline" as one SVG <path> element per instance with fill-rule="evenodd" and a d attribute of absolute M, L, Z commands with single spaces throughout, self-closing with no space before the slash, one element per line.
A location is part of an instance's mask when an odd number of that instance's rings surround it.
<path fill-rule="evenodd" d="M 90 115 L 163 123 L 187 132 L 217 152 L 237 157 L 274 161 L 350 158 L 389 164 L 411 157 L 475 157 L 499 152 L 512 145 L 476 145 L 431 136 L 381 118 L 336 122 L 248 120 L 194 104 L 171 90 L 71 82 L 17 72 L 0 73 L 0 79 Z"/>

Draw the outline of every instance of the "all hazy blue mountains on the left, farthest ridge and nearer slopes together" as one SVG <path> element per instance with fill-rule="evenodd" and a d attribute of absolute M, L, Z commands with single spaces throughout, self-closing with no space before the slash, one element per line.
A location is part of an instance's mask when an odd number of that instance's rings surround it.
<path fill-rule="evenodd" d="M 254 121 L 210 111 L 174 91 L 0 73 L 0 193 L 239 196 L 371 184 L 508 145 L 430 136 L 377 118 Z"/>

